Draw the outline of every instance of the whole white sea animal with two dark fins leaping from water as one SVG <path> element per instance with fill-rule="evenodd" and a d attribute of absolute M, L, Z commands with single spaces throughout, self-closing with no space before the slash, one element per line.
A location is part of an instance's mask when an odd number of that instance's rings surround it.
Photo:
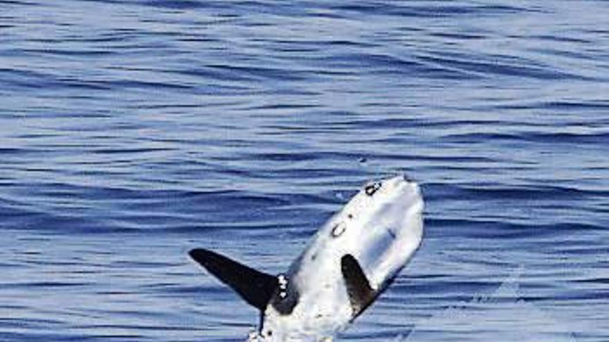
<path fill-rule="evenodd" d="M 419 186 L 402 176 L 366 184 L 278 276 L 207 249 L 190 256 L 260 310 L 248 341 L 331 341 L 412 258 L 423 207 Z"/>

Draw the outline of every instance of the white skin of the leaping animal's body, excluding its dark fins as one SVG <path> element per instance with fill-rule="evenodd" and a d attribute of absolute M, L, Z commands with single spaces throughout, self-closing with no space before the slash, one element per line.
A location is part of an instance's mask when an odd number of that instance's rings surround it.
<path fill-rule="evenodd" d="M 266 307 L 264 339 L 258 341 L 320 342 L 343 330 L 354 312 L 341 258 L 352 255 L 372 289 L 382 292 L 421 243 L 423 207 L 419 186 L 403 177 L 363 187 L 312 238 L 287 276 L 278 278 L 279 295 L 282 281 L 284 287 L 289 281 L 298 290 L 298 302 L 286 315 Z"/>

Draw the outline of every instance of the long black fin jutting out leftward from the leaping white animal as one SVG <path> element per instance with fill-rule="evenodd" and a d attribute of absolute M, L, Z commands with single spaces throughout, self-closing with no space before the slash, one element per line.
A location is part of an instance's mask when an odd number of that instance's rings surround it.
<path fill-rule="evenodd" d="M 249 305 L 262 312 L 279 286 L 277 277 L 259 272 L 213 251 L 197 248 L 188 254 L 220 281 L 232 287 Z"/>

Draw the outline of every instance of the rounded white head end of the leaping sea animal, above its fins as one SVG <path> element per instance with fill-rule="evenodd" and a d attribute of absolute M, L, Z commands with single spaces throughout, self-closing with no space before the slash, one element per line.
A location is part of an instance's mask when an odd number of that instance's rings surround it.
<path fill-rule="evenodd" d="M 423 210 L 419 184 L 397 175 L 365 184 L 329 220 L 326 234 L 339 254 L 354 256 L 371 287 L 381 292 L 418 249 Z"/>

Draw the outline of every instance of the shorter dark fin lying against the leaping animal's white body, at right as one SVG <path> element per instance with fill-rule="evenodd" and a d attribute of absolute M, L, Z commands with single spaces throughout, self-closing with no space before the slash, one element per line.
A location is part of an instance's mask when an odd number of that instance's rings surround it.
<path fill-rule="evenodd" d="M 372 289 L 363 269 L 351 254 L 340 258 L 340 271 L 343 272 L 347 294 L 353 309 L 352 319 L 355 319 L 372 304 L 377 293 Z"/>

